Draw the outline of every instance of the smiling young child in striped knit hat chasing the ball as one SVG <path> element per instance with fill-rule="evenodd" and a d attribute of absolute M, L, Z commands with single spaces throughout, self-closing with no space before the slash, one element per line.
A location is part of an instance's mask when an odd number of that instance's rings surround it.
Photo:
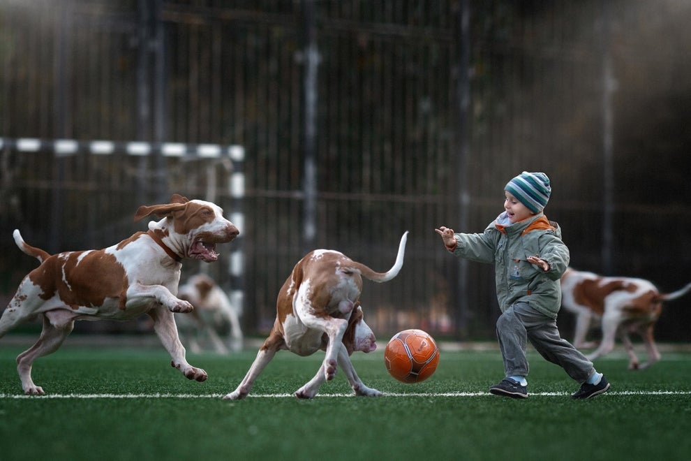
<path fill-rule="evenodd" d="M 569 264 L 569 249 L 561 241 L 558 224 L 542 210 L 551 186 L 544 173 L 524 171 L 505 187 L 504 212 L 483 233 L 454 233 L 435 229 L 445 247 L 470 261 L 495 264 L 497 300 L 502 314 L 496 323 L 505 379 L 489 388 L 494 395 L 528 397 L 527 341 L 555 363 L 581 388 L 574 399 L 588 399 L 609 389 L 607 379 L 556 325 L 561 305 L 560 278 Z"/>

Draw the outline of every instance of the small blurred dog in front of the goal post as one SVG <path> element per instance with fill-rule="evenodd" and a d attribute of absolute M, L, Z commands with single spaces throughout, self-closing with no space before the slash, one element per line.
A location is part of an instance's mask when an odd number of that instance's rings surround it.
<path fill-rule="evenodd" d="M 181 339 L 192 352 L 201 352 L 205 339 L 218 353 L 227 354 L 229 348 L 234 352 L 242 350 L 242 312 L 230 302 L 214 279 L 204 274 L 193 275 L 179 287 L 177 297 L 194 306 L 189 314 L 175 316 Z M 227 328 L 230 328 L 228 339 L 224 341 L 218 330 Z"/>

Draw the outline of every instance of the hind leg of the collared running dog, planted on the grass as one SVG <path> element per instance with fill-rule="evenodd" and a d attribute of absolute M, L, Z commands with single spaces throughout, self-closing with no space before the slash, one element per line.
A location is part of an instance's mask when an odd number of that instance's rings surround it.
<path fill-rule="evenodd" d="M 43 330 L 38 341 L 30 349 L 17 356 L 17 372 L 22 380 L 22 389 L 25 394 L 45 394 L 43 388 L 36 386 L 31 379 L 31 367 L 37 358 L 57 351 L 74 326 L 74 316 L 68 311 L 57 310 L 43 314 Z"/>

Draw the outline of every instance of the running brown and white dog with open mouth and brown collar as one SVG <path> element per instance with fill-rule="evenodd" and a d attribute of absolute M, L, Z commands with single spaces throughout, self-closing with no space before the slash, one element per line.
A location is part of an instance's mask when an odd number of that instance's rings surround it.
<path fill-rule="evenodd" d="M 230 242 L 237 228 L 214 203 L 174 194 L 165 205 L 142 206 L 135 221 L 151 214 L 149 231 L 105 249 L 66 251 L 50 255 L 29 246 L 19 231 L 17 247 L 40 261 L 24 277 L 0 318 L 0 337 L 16 325 L 43 317 L 43 332 L 31 349 L 17 356 L 17 372 L 27 394 L 43 394 L 31 379 L 36 358 L 56 351 L 74 328 L 75 320 L 131 320 L 149 314 L 154 330 L 172 357 L 171 365 L 188 379 L 204 381 L 207 373 L 185 359 L 173 312 L 191 312 L 192 305 L 176 298 L 180 261 L 216 261 L 216 244 Z"/>

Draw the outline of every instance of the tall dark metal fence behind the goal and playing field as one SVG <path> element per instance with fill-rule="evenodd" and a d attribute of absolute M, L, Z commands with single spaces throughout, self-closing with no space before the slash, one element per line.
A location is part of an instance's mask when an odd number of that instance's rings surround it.
<path fill-rule="evenodd" d="M 278 288 L 309 249 L 386 270 L 410 231 L 399 277 L 364 288 L 368 322 L 382 335 L 420 327 L 491 338 L 492 268 L 449 256 L 433 228 L 482 231 L 521 170 L 550 175 L 547 212 L 575 264 L 677 288 L 691 274 L 690 256 L 680 256 L 690 244 L 662 219 L 691 224 L 674 198 L 688 188 L 676 173 L 688 171 L 683 142 L 648 145 L 653 156 L 636 147 L 630 130 L 645 125 L 627 112 L 633 98 L 617 95 L 655 81 L 632 70 L 688 70 L 674 20 L 688 8 L 665 0 L 651 16 L 644 1 L 607 4 L 0 1 L 0 137 L 10 140 L 0 151 L 0 292 L 31 268 L 13 228 L 50 251 L 105 247 L 142 228 L 131 222 L 139 205 L 177 192 L 242 207 L 244 276 L 228 275 L 227 255 L 205 270 L 244 291 L 251 332 L 270 327 Z M 677 33 L 655 54 L 641 43 L 660 28 Z M 42 142 L 24 152 L 21 138 Z M 120 147 L 60 156 L 58 139 Z M 128 154 L 133 141 L 153 148 Z M 162 155 L 171 142 L 242 146 L 242 205 L 227 163 Z M 631 196 L 625 184 L 651 168 L 666 191 Z M 662 219 L 646 219 L 652 211 Z M 641 220 L 644 234 L 630 238 Z M 189 264 L 185 275 L 199 269 Z M 662 337 L 689 339 L 680 312 Z"/>

